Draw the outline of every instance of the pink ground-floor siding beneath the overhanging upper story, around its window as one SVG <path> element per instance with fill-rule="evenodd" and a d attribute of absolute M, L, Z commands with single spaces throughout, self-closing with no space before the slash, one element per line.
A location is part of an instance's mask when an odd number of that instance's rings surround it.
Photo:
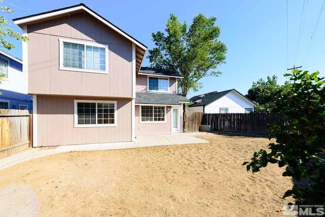
<path fill-rule="evenodd" d="M 117 126 L 74 128 L 74 100 L 117 101 Z M 38 146 L 132 141 L 132 102 L 116 98 L 37 97 Z"/>

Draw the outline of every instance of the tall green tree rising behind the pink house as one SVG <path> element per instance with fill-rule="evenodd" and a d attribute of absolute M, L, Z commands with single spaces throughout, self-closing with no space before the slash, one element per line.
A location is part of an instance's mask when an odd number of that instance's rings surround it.
<path fill-rule="evenodd" d="M 203 14 L 194 16 L 187 28 L 171 14 L 166 24 L 166 35 L 162 32 L 152 34 L 155 42 L 149 50 L 151 67 L 179 72 L 180 94 L 187 97 L 189 90 L 197 91 L 202 87 L 200 79 L 218 76 L 217 66 L 225 63 L 226 46 L 218 41 L 220 28 L 215 25 L 216 18 Z"/>

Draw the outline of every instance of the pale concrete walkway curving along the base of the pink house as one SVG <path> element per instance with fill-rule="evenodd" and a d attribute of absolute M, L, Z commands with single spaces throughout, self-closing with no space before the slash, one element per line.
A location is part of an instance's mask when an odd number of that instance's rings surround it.
<path fill-rule="evenodd" d="M 99 143 L 85 145 L 61 145 L 53 149 L 31 148 L 26 151 L 14 154 L 4 159 L 0 159 L 0 170 L 12 165 L 28 161 L 35 158 L 41 158 L 55 153 L 63 153 L 70 151 L 92 151 L 92 150 L 113 150 L 123 148 L 136 148 L 158 145 L 178 145 L 192 143 L 208 143 L 208 141 L 197 138 L 195 136 L 205 135 L 206 133 L 177 133 L 171 135 L 157 136 L 139 136 L 134 142 L 115 142 L 115 143 Z"/>

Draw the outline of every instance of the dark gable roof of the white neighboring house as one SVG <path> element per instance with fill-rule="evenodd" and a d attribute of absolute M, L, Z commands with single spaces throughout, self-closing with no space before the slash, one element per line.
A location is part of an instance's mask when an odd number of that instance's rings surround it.
<path fill-rule="evenodd" d="M 233 91 L 236 92 L 239 96 L 241 96 L 245 100 L 247 100 L 250 103 L 256 105 L 256 103 L 254 103 L 253 101 L 251 101 L 250 99 L 248 99 L 247 97 L 245 97 L 244 95 L 242 95 L 236 89 L 229 89 L 229 90 L 225 90 L 225 91 L 222 91 L 222 92 L 218 92 L 218 91 L 208 92 L 207 94 L 203 94 L 203 95 L 200 95 L 200 96 L 192 97 L 189 100 L 191 102 L 193 102 L 194 104 L 189 105 L 188 107 L 196 107 L 196 106 L 206 106 L 206 105 L 209 105 L 210 103 L 213 103 L 214 101 L 222 98 L 223 96 L 225 96 L 225 95 L 227 95 L 227 94 L 229 94 L 230 92 L 233 92 Z"/>

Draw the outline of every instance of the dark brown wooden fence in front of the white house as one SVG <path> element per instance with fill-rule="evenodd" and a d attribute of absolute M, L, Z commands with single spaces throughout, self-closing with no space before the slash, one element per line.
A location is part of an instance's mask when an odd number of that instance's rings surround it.
<path fill-rule="evenodd" d="M 290 122 L 274 113 L 228 113 L 204 114 L 201 125 L 211 125 L 212 131 L 270 135 L 267 123 L 279 121 Z"/>

